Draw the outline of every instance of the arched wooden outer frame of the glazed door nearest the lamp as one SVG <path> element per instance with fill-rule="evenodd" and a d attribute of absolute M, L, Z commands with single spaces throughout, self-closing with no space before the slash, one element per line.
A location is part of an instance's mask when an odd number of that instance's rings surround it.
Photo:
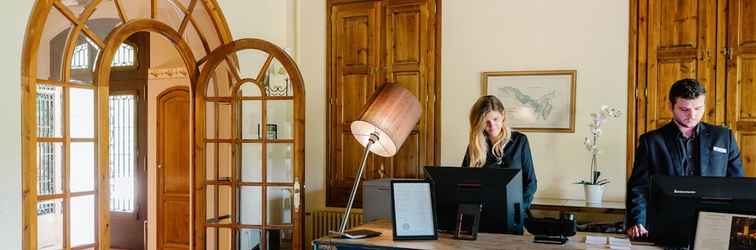
<path fill-rule="evenodd" d="M 227 55 L 242 51 L 242 50 L 249 50 L 249 49 L 256 49 L 261 50 L 264 52 L 269 53 L 269 58 L 266 62 L 266 64 L 269 64 L 272 58 L 277 59 L 279 62 L 281 62 L 281 65 L 284 67 L 286 72 L 288 72 L 289 77 L 292 81 L 292 88 L 293 88 L 293 99 L 294 99 L 294 182 L 295 182 L 295 193 L 298 193 L 295 195 L 295 199 L 298 198 L 298 200 L 294 201 L 295 203 L 298 202 L 300 206 L 298 207 L 298 211 L 295 211 L 294 214 L 297 214 L 299 216 L 294 216 L 292 218 L 292 224 L 299 225 L 301 230 L 295 230 L 295 234 L 299 233 L 299 239 L 302 239 L 301 242 L 294 242 L 294 249 L 301 249 L 304 247 L 304 183 L 305 183 L 305 176 L 304 176 L 304 145 L 305 145 L 305 131 L 304 131 L 304 121 L 305 121 L 305 114 L 304 114 L 304 104 L 305 104 L 305 96 L 304 96 L 304 81 L 302 79 L 302 74 L 299 71 L 299 68 L 296 66 L 296 63 L 294 62 L 294 59 L 292 59 L 288 53 L 286 53 L 283 49 L 279 48 L 273 43 L 270 43 L 265 40 L 261 39 L 255 39 L 255 38 L 245 38 L 245 39 L 239 39 L 235 40 L 229 43 L 226 43 L 224 45 L 221 45 L 220 47 L 213 50 L 210 54 L 208 54 L 205 58 L 207 60 L 204 61 L 204 65 L 202 67 L 202 71 L 199 73 L 199 77 L 196 81 L 196 85 L 192 85 L 192 93 L 194 103 L 194 138 L 206 138 L 205 132 L 205 93 L 206 88 L 208 85 L 208 82 L 210 81 L 211 76 L 213 75 L 213 72 L 215 68 L 220 64 L 222 61 L 226 60 Z M 272 57 L 272 58 L 270 58 Z M 263 66 L 265 68 L 266 66 Z M 240 84 L 244 82 L 249 82 L 249 79 L 241 79 Z M 238 88 L 238 86 L 235 86 L 234 89 Z M 194 168 L 193 173 L 205 173 L 206 166 L 205 166 L 205 143 L 203 139 L 195 139 L 194 140 Z M 193 199 L 194 202 L 192 202 L 193 206 L 193 218 L 194 218 L 194 249 L 201 250 L 205 248 L 205 176 L 203 174 L 193 174 L 194 177 L 194 185 L 193 185 Z M 297 186 L 298 184 L 298 186 Z M 298 197 L 297 197 L 298 196 Z M 295 238 L 297 238 L 295 236 Z"/>

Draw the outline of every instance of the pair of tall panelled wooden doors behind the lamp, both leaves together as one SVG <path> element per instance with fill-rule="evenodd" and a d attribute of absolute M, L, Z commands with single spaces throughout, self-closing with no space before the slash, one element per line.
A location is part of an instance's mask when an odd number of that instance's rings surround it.
<path fill-rule="evenodd" d="M 418 178 L 438 163 L 437 10 L 435 0 L 328 1 L 327 206 L 346 204 L 364 153 L 350 124 L 384 83 L 415 94 L 422 116 L 395 156 L 370 155 L 364 179 Z"/>

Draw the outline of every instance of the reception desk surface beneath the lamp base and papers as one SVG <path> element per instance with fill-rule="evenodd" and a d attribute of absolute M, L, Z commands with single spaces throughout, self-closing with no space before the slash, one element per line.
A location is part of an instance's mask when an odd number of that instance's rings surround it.
<path fill-rule="evenodd" d="M 533 242 L 532 235 L 488 234 L 479 233 L 474 241 L 457 240 L 449 234 L 439 234 L 438 240 L 393 241 L 391 222 L 377 221 L 356 227 L 381 232 L 382 235 L 367 239 L 337 239 L 323 237 L 312 242 L 313 249 L 586 249 L 585 233 L 578 233 L 570 237 L 564 245 L 540 244 Z M 609 234 L 590 234 L 612 236 Z M 619 235 L 613 235 L 619 236 Z M 662 249 L 647 245 L 648 243 L 632 243 L 632 249 Z M 642 245 L 645 244 L 645 245 Z M 596 249 L 608 249 L 597 246 Z"/>

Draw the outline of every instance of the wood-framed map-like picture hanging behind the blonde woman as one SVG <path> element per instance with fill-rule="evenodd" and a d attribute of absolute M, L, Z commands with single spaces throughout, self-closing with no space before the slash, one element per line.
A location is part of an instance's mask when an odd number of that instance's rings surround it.
<path fill-rule="evenodd" d="M 574 133 L 576 75 L 575 70 L 483 72 L 482 95 L 501 100 L 514 129 Z"/>

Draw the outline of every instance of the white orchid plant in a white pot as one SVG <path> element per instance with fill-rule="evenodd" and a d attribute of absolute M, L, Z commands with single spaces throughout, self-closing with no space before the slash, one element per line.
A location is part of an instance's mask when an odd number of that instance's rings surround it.
<path fill-rule="evenodd" d="M 609 107 L 607 105 L 601 106 L 601 110 L 596 113 L 591 113 L 591 123 L 588 127 L 591 128 L 590 136 L 585 137 L 583 144 L 588 152 L 591 152 L 591 173 L 589 180 L 581 180 L 575 184 L 583 185 L 604 185 L 609 183 L 606 178 L 601 178 L 601 171 L 598 170 L 598 155 L 601 153 L 599 150 L 598 139 L 601 136 L 601 125 L 603 125 L 608 118 L 617 118 L 622 115 L 622 111 Z"/>

